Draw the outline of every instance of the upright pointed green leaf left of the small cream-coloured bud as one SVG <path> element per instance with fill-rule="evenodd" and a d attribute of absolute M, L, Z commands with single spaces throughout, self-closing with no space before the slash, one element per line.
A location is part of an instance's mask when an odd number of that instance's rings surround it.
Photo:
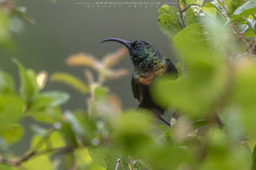
<path fill-rule="evenodd" d="M 27 102 L 31 102 L 32 99 L 38 94 L 38 86 L 36 84 L 36 77 L 32 70 L 25 70 L 22 63 L 17 59 L 14 59 L 20 74 L 20 93 Z"/>

